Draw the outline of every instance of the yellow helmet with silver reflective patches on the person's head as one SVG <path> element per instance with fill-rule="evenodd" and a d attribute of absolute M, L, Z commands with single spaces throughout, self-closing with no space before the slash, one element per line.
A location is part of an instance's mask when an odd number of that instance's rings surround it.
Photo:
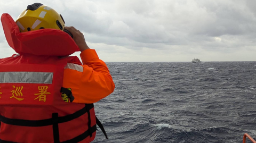
<path fill-rule="evenodd" d="M 41 3 L 28 5 L 15 21 L 21 32 L 44 28 L 64 30 L 65 21 L 62 16 L 49 6 Z"/>

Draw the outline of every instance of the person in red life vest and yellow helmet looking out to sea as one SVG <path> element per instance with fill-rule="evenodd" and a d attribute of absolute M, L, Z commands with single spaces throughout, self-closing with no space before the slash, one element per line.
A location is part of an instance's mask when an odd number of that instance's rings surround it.
<path fill-rule="evenodd" d="M 4 13 L 1 22 L 19 54 L 0 58 L 0 142 L 91 142 L 96 125 L 107 138 L 93 103 L 115 85 L 83 33 L 41 3 L 28 5 L 15 22 Z M 69 56 L 76 51 L 83 64 Z"/>

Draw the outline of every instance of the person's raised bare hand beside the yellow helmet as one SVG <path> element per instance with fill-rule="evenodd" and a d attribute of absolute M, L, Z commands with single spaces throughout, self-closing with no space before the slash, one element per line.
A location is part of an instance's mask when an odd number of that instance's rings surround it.
<path fill-rule="evenodd" d="M 73 39 L 81 52 L 83 52 L 85 49 L 90 49 L 86 44 L 86 41 L 84 39 L 84 35 L 82 32 L 80 32 L 74 27 L 65 27 L 65 29 L 67 29 L 73 35 L 74 37 Z"/>

